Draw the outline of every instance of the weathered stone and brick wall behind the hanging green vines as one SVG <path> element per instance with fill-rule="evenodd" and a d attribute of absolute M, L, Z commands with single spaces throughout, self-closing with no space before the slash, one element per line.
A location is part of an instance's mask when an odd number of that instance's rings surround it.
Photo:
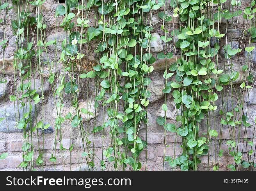
<path fill-rule="evenodd" d="M 49 40 L 54 40 L 56 38 L 56 41 L 62 42 L 62 40 L 65 38 L 65 31 L 63 32 L 63 28 L 59 27 L 59 24 L 62 21 L 61 19 L 57 20 L 57 27 L 56 27 L 56 19 L 54 18 L 55 15 L 55 8 L 57 6 L 58 1 L 51 1 L 51 0 L 46 0 L 42 4 L 42 14 L 44 17 L 44 22 L 47 25 L 46 28 L 46 37 L 47 41 Z M 244 8 L 249 5 L 248 1 L 241 1 L 242 7 Z M 64 5 L 64 4 L 63 4 Z M 213 5 L 214 10 L 217 9 L 218 5 Z M 224 6 L 228 8 L 228 1 L 224 3 Z M 35 9 L 34 6 L 29 5 L 29 9 L 32 11 L 32 15 L 35 15 Z M 243 9 L 242 9 L 243 10 Z M 76 9 L 72 10 L 73 13 L 77 13 Z M 170 14 L 173 14 L 173 9 L 169 10 Z M 1 18 L 3 17 L 3 14 L 1 13 Z M 16 44 L 15 44 L 15 36 L 13 35 L 13 31 L 11 28 L 11 19 L 15 17 L 14 10 L 9 10 L 8 11 L 8 18 L 6 20 L 6 39 L 8 39 L 8 47 L 5 49 L 5 59 L 6 63 L 9 63 L 9 67 L 5 68 L 6 74 L 5 74 L 5 79 L 7 79 L 7 83 L 1 84 L 0 86 L 0 111 L 4 111 L 6 109 L 6 113 L 9 113 L 10 115 L 7 116 L 6 119 L 4 119 L 0 123 L 0 154 L 3 152 L 8 153 L 8 157 L 4 160 L 0 160 L 0 170 L 22 170 L 22 168 L 17 168 L 17 166 L 22 162 L 22 145 L 23 145 L 23 132 L 20 130 L 17 130 L 15 128 L 16 126 L 16 118 L 22 117 L 22 112 L 19 112 L 20 108 L 17 107 L 17 105 L 13 105 L 13 102 L 9 100 L 9 95 L 13 95 L 13 90 L 14 90 L 14 84 L 17 83 L 19 84 L 19 81 L 14 81 L 14 69 L 12 68 L 13 64 L 13 55 L 14 51 L 16 50 Z M 94 12 L 92 11 L 91 13 L 88 14 L 88 19 L 90 19 L 90 22 L 88 23 L 89 26 L 95 26 L 95 19 L 94 19 Z M 160 19 L 157 15 L 157 12 L 154 13 L 153 18 L 152 18 L 152 24 L 154 27 L 154 30 L 152 31 L 153 36 L 157 37 L 157 40 L 151 43 L 150 45 L 150 51 L 153 54 L 154 57 L 157 56 L 157 53 L 161 52 L 164 50 L 164 43 L 160 40 L 160 36 L 163 35 L 163 32 L 159 30 L 161 23 L 159 23 Z M 168 30 L 172 31 L 175 27 L 177 27 L 177 22 L 178 18 L 173 18 L 172 21 L 168 23 Z M 232 24 L 233 22 L 233 24 Z M 223 41 L 220 42 L 220 52 L 218 54 L 218 67 L 219 69 L 224 68 L 228 63 L 227 60 L 223 56 L 223 46 L 226 43 L 230 43 L 232 39 L 233 43 L 232 46 L 240 47 L 241 49 L 244 49 L 245 45 L 248 44 L 248 34 L 244 31 L 247 30 L 247 26 L 245 25 L 246 20 L 243 19 L 242 15 L 239 17 L 236 17 L 233 21 L 229 20 L 227 22 L 225 19 L 221 20 L 219 27 L 221 28 L 221 33 L 226 34 L 227 38 L 223 38 Z M 57 33 L 55 34 L 55 30 Z M 227 30 L 227 32 L 226 32 Z M 33 31 L 29 31 L 29 38 L 31 40 L 31 36 L 33 35 Z M 246 36 L 247 35 L 247 36 Z M 232 36 L 232 38 L 231 38 Z M 168 44 L 167 46 L 167 51 L 173 52 L 173 55 L 179 55 L 180 50 L 175 49 L 174 46 L 174 41 L 176 38 L 173 38 L 172 42 Z M 3 40 L 3 23 L 0 24 L 0 41 Z M 24 41 L 25 42 L 25 41 Z M 59 45 L 60 46 L 60 45 Z M 55 47 L 52 45 L 47 49 L 48 51 L 48 58 L 46 53 L 42 54 L 42 60 L 47 60 L 49 59 L 49 62 L 55 61 L 55 54 L 56 57 L 60 56 L 60 47 L 57 46 L 57 51 L 55 52 Z M 90 47 L 95 48 L 95 44 L 89 44 L 89 49 Z M 94 63 L 94 52 L 90 51 L 93 54 L 89 57 L 90 60 Z M 83 53 L 87 55 L 88 53 L 88 48 L 87 46 L 83 47 Z M 245 55 L 243 55 L 243 51 L 238 54 L 235 58 L 233 58 L 232 63 L 233 63 L 233 68 L 236 69 L 236 71 L 241 72 L 242 65 L 245 63 Z M 253 51 L 254 53 L 254 51 Z M 253 54 L 253 58 L 256 56 Z M 3 50 L 0 49 L 0 58 L 3 58 Z M 36 60 L 32 60 L 32 65 L 35 65 Z M 86 61 L 85 61 L 86 62 Z M 253 61 L 253 63 L 256 62 L 256 57 Z M 0 61 L 0 75 L 3 77 L 3 61 Z M 54 119 L 56 117 L 56 108 L 54 106 L 54 94 L 52 92 L 51 85 L 47 81 L 48 77 L 48 65 L 43 65 L 42 66 L 43 71 L 44 71 L 44 78 L 43 78 L 43 83 L 40 81 L 39 74 L 38 72 L 35 72 L 35 75 L 33 75 L 33 84 L 31 87 L 35 87 L 37 90 L 37 93 L 42 95 L 42 88 L 43 88 L 43 94 L 44 94 L 44 99 L 40 101 L 39 103 L 36 104 L 36 107 L 34 106 L 32 108 L 32 119 L 33 119 L 33 124 L 35 125 L 37 120 L 42 120 L 42 116 L 44 117 L 43 121 L 45 124 L 50 124 L 49 128 L 45 130 L 44 133 L 44 138 L 42 137 L 42 131 L 38 132 L 38 135 L 36 132 L 33 132 L 33 145 L 34 145 L 34 154 L 35 156 L 38 155 L 38 149 L 42 149 L 42 145 L 44 144 L 44 164 L 45 164 L 45 169 L 52 170 L 54 169 L 54 166 L 52 165 L 53 163 L 49 161 L 49 158 L 51 157 L 51 153 L 55 152 L 53 150 L 53 145 L 54 145 L 54 139 L 55 139 L 55 129 L 54 129 Z M 54 72 L 60 72 L 60 67 L 58 69 L 56 67 L 53 68 Z M 155 72 L 152 72 L 150 74 L 150 79 L 152 80 L 152 83 L 150 83 L 148 90 L 151 92 L 151 97 L 150 97 L 150 104 L 147 108 L 148 112 L 148 118 L 149 118 L 149 127 L 147 130 L 147 140 L 148 140 L 148 145 L 147 145 L 147 170 L 161 170 L 162 169 L 162 161 L 163 161 L 163 145 L 164 145 L 164 129 L 162 126 L 159 126 L 156 122 L 157 117 L 164 117 L 164 112 L 161 109 L 162 108 L 162 103 L 164 103 L 164 93 L 162 92 L 162 89 L 165 87 L 164 85 L 164 78 L 163 76 L 163 71 L 157 71 L 155 69 Z M 252 68 L 253 71 L 255 71 L 255 67 Z M 229 71 L 227 70 L 227 73 Z M 67 75 L 67 74 L 66 74 Z M 254 75 L 254 74 L 253 74 Z M 0 78 L 1 78 L 0 77 Z M 68 76 L 67 76 L 68 78 Z M 19 79 L 19 78 L 17 78 Z M 172 79 L 170 79 L 172 80 Z M 55 81 L 54 83 L 57 83 Z M 82 91 L 79 93 L 79 105 L 86 106 L 87 103 L 91 103 L 91 95 L 93 94 L 94 90 L 94 80 L 89 81 L 87 84 L 87 80 L 81 79 L 81 87 L 79 87 Z M 241 79 L 240 79 L 241 83 Z M 239 84 L 239 79 L 237 84 Z M 88 98 L 87 98 L 87 86 L 88 86 Z M 255 89 L 253 89 L 250 94 L 249 94 L 249 109 L 248 109 L 248 114 L 247 117 L 249 117 L 250 124 L 252 126 L 247 128 L 247 134 L 248 138 L 253 140 L 255 142 L 255 138 L 253 139 L 253 132 L 254 132 L 254 117 L 256 116 L 256 101 L 254 100 L 255 96 Z M 221 98 L 221 95 L 219 94 L 219 98 Z M 235 99 L 235 98 L 234 98 Z M 3 101 L 5 100 L 5 102 Z M 230 95 L 224 95 L 224 100 L 227 101 L 227 103 L 230 103 L 231 101 L 234 102 L 234 100 L 231 99 L 231 94 Z M 72 106 L 70 106 L 70 96 L 65 94 L 63 96 L 63 103 L 65 104 L 63 108 L 63 116 L 65 116 L 69 111 Z M 33 105 L 33 104 L 32 104 Z M 89 131 L 92 131 L 94 126 L 102 125 L 103 118 L 106 118 L 106 113 L 103 113 L 102 106 L 97 108 L 97 110 L 94 109 L 93 107 L 94 103 L 92 103 L 92 109 L 91 112 L 95 114 L 96 117 L 96 122 L 94 120 L 84 121 L 85 126 L 89 126 Z M 222 106 L 222 101 L 221 99 L 218 99 L 218 103 L 216 103 L 218 107 L 221 108 Z M 232 108 L 231 103 L 227 104 L 229 105 L 229 109 Z M 177 116 L 177 110 L 175 109 L 175 103 L 173 102 L 173 97 L 171 94 L 168 94 L 167 96 L 167 106 L 168 106 L 168 111 L 166 114 L 167 122 L 176 123 L 175 117 Z M 72 110 L 72 109 L 71 109 Z M 246 111 L 245 111 L 246 112 Z M 217 132 L 220 132 L 220 117 L 218 116 L 218 112 L 215 112 L 216 114 L 212 116 L 211 118 L 211 126 L 216 126 Z M 43 115 L 44 114 L 44 115 Z M 105 116 L 104 116 L 105 115 Z M 0 118 L 5 117 L 4 114 L 0 113 Z M 94 119 L 94 116 L 92 117 Z M 6 125 L 6 122 L 8 124 L 8 127 Z M 95 124 L 94 124 L 95 123 Z M 202 123 L 203 124 L 203 123 Z M 81 146 L 81 140 L 79 139 L 79 133 L 77 128 L 71 128 L 70 127 L 70 122 L 68 120 L 65 120 L 64 125 L 61 127 L 62 128 L 62 140 L 63 140 L 63 147 L 65 147 L 67 150 L 64 152 L 65 153 L 65 165 L 64 165 L 64 160 L 57 158 L 56 160 L 56 170 L 64 170 L 64 169 L 71 169 L 71 170 L 76 170 L 78 168 L 78 160 L 81 161 L 81 152 L 83 152 L 82 146 Z M 202 125 L 202 130 L 205 129 L 206 131 L 206 126 Z M 108 134 L 109 129 L 106 130 L 106 133 Z M 243 130 L 244 132 L 244 130 Z M 243 135 L 243 132 L 241 132 L 241 135 Z M 146 128 L 144 125 L 141 126 L 140 130 L 140 135 L 142 138 L 145 138 L 146 134 Z M 37 139 L 37 136 L 39 137 Z M 89 135 L 89 140 L 93 142 L 94 140 L 94 147 L 95 147 L 95 154 L 98 157 L 102 156 L 102 145 L 106 147 L 108 145 L 108 138 L 106 136 L 105 143 L 102 143 L 102 136 L 99 133 L 95 134 L 95 138 L 93 137 L 93 134 Z M 237 136 L 234 135 L 234 136 Z M 229 158 L 228 156 L 228 149 L 226 148 L 225 142 L 230 138 L 230 132 L 228 128 L 223 128 L 222 130 L 222 140 L 223 141 L 223 146 L 222 149 L 223 151 L 223 157 L 218 162 L 218 165 L 220 169 L 225 170 L 227 162 L 232 163 L 233 159 Z M 44 139 L 44 142 L 42 141 Z M 219 137 L 218 137 L 219 139 Z M 217 140 L 218 141 L 218 140 Z M 176 147 L 174 147 L 176 142 Z M 169 145 L 169 147 L 166 148 L 166 156 L 175 156 L 179 155 L 182 152 L 182 149 L 179 147 L 181 144 L 182 140 L 180 137 L 175 137 L 175 133 L 166 133 L 166 144 Z M 68 148 L 70 147 L 71 144 L 74 144 L 74 150 L 72 151 L 71 155 L 70 152 L 68 151 Z M 214 151 L 214 144 L 212 143 L 212 149 L 209 149 L 209 156 L 204 156 L 201 159 L 201 163 L 199 164 L 199 169 L 208 169 L 208 160 L 213 161 L 215 163 L 215 160 L 218 160 L 218 156 L 216 157 L 216 154 L 218 151 Z M 59 148 L 57 146 L 57 148 Z M 241 151 L 245 152 L 247 151 L 247 148 L 242 148 L 239 147 Z M 56 150 L 57 156 L 60 156 L 60 152 L 57 149 Z M 79 154 L 78 154 L 79 153 Z M 142 163 L 142 170 L 145 169 L 145 161 L 146 161 L 146 155 L 145 155 L 145 150 L 140 155 L 141 157 L 141 163 Z M 217 158 L 217 159 L 216 159 Z M 70 164 L 71 161 L 71 164 Z M 96 166 L 99 166 L 99 160 L 94 160 Z M 80 162 L 79 162 L 80 164 Z M 85 165 L 85 163 L 83 163 Z M 82 168 L 85 169 L 85 168 Z M 170 170 L 172 169 L 168 163 L 166 162 L 165 164 L 165 169 Z"/>

